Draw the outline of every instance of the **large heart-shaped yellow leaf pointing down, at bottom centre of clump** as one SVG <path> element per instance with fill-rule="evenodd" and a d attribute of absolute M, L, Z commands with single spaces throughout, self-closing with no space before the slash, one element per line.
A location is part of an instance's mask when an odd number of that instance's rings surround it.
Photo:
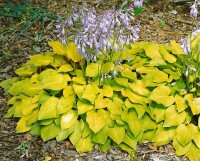
<path fill-rule="evenodd" d="M 87 112 L 86 121 L 90 129 L 96 134 L 107 123 L 107 112 L 103 109 L 90 110 Z"/>

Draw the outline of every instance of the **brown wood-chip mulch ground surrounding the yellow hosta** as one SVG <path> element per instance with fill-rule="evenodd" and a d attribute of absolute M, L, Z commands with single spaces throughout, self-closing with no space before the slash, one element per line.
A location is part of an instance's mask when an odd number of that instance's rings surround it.
<path fill-rule="evenodd" d="M 5 2 L 8 2 L 5 0 Z M 37 2 L 37 1 L 36 1 Z M 34 2 L 35 3 L 35 2 Z M 101 9 L 109 8 L 113 1 L 102 3 Z M 63 15 L 68 1 L 39 0 L 38 4 L 47 6 L 52 13 Z M 79 5 L 81 3 L 78 3 Z M 0 6 L 5 5 L 0 2 Z M 91 5 L 94 5 L 91 3 Z M 144 10 L 136 17 L 141 24 L 140 41 L 151 41 L 168 44 L 170 40 L 179 41 L 187 37 L 198 20 L 189 15 L 191 3 L 175 4 L 170 1 L 149 0 L 144 4 Z M 1 8 L 0 8 L 1 9 Z M 0 16 L 0 81 L 15 75 L 29 55 L 51 50 L 47 42 L 56 40 L 56 21 L 46 19 L 44 33 L 39 42 L 35 37 L 41 31 L 41 22 L 37 22 L 19 35 L 22 19 Z M 112 147 L 107 153 L 102 153 L 98 147 L 89 153 L 79 154 L 69 141 L 57 143 L 55 140 L 43 142 L 40 137 L 29 133 L 16 134 L 14 119 L 4 119 L 8 109 L 6 104 L 9 96 L 0 88 L 0 160 L 1 161 L 187 161 L 185 157 L 176 157 L 171 144 L 155 147 L 151 143 L 138 145 L 136 156 L 130 155 Z"/>

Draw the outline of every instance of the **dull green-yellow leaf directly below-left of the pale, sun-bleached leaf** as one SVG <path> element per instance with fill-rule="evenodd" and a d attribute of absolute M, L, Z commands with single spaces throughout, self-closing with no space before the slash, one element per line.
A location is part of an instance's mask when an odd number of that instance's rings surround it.
<path fill-rule="evenodd" d="M 60 133 L 60 128 L 53 122 L 50 125 L 41 128 L 41 137 L 43 141 L 55 138 Z"/>

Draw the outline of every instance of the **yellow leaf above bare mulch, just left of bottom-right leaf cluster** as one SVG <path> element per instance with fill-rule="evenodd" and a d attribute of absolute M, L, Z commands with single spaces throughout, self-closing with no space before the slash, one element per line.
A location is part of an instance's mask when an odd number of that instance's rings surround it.
<path fill-rule="evenodd" d="M 168 144 L 173 140 L 175 133 L 176 127 L 164 128 L 162 124 L 159 124 L 152 141 L 156 146 Z"/>

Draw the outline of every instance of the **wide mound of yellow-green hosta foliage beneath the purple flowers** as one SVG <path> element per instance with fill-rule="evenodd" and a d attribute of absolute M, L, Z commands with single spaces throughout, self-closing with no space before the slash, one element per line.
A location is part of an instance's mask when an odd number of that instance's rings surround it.
<path fill-rule="evenodd" d="M 134 154 L 138 142 L 173 141 L 178 156 L 200 158 L 200 98 L 184 90 L 178 43 L 137 42 L 88 65 L 74 43 L 49 45 L 53 52 L 31 56 L 1 82 L 17 133 L 69 139 L 78 152 L 113 144 Z"/>

